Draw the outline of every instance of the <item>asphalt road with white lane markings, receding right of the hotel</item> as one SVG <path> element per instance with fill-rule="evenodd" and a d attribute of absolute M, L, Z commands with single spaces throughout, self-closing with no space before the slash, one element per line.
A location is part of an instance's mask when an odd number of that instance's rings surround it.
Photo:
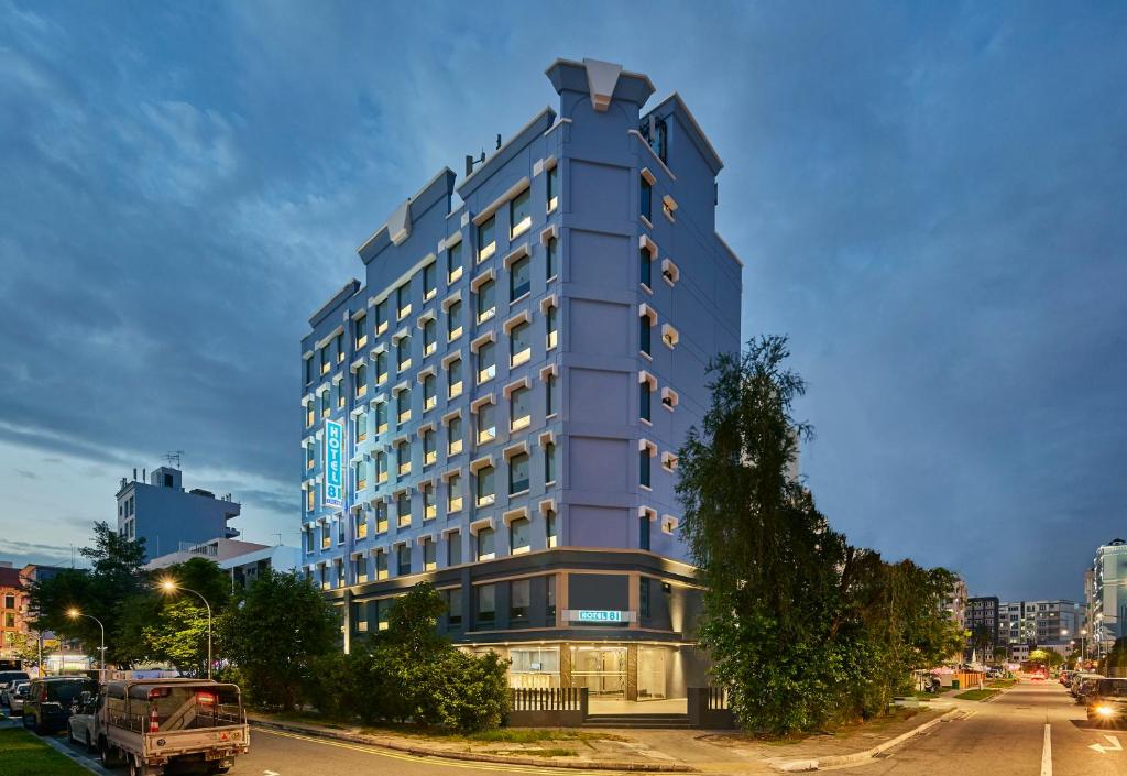
<path fill-rule="evenodd" d="M 1056 681 L 1022 681 L 957 716 L 850 770 L 880 776 L 1127 774 L 1127 730 L 1090 725 L 1084 707 Z"/>

